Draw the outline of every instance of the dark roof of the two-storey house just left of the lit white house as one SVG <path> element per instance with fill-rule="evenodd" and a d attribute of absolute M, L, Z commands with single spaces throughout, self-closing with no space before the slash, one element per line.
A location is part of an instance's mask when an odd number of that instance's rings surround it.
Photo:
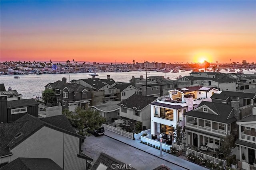
<path fill-rule="evenodd" d="M 138 110 L 142 110 L 144 107 L 148 106 L 151 102 L 153 102 L 156 99 L 157 99 L 156 97 L 133 94 L 126 100 L 120 102 L 118 106 L 122 104 L 124 105 L 124 107 L 127 107 L 127 108 L 132 109 L 133 107 L 136 107 Z"/>

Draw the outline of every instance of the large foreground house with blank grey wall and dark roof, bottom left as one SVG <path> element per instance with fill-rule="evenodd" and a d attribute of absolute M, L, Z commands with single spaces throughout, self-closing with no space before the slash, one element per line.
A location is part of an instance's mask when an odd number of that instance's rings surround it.
<path fill-rule="evenodd" d="M 48 158 L 64 170 L 81 170 L 92 160 L 80 150 L 85 137 L 75 133 L 65 115 L 38 119 L 26 114 L 0 128 L 1 164 L 23 157 Z"/>

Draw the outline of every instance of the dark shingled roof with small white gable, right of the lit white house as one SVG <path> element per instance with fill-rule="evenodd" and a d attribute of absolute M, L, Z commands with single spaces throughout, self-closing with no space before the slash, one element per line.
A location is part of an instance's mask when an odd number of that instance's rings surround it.
<path fill-rule="evenodd" d="M 206 105 L 207 107 L 212 109 L 218 115 L 211 114 L 211 113 L 205 113 L 205 112 L 201 112 L 201 111 L 196 111 L 196 110 L 188 111 L 188 112 L 184 113 L 184 115 L 198 117 L 198 118 L 212 120 L 212 121 L 217 121 L 217 122 L 222 122 L 222 123 L 232 123 L 232 122 L 236 121 L 235 117 L 231 117 L 228 119 L 228 116 L 230 115 L 230 112 L 233 109 L 233 107 L 231 107 L 230 105 L 202 101 L 197 108 L 199 108 L 203 105 Z"/>

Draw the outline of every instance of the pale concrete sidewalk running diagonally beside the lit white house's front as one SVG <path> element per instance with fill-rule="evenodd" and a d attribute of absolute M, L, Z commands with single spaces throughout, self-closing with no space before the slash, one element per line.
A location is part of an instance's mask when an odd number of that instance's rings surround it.
<path fill-rule="evenodd" d="M 200 170 L 208 170 L 208 168 L 204 168 L 202 166 L 199 166 L 197 164 L 194 164 L 192 162 L 189 162 L 187 160 L 184 160 L 182 158 L 179 158 L 177 156 L 174 156 L 174 155 L 166 153 L 166 152 L 162 152 L 163 156 L 159 156 L 160 150 L 140 143 L 140 139 L 135 141 L 135 140 L 129 139 L 128 137 L 118 135 L 117 133 L 114 133 L 114 132 L 111 132 L 108 130 L 105 130 L 104 135 L 111 137 L 112 139 L 116 139 L 117 141 L 120 141 L 122 143 L 126 143 L 127 145 L 130 145 L 134 148 L 140 149 L 144 152 L 147 152 L 149 154 L 157 156 L 158 158 L 161 158 L 163 160 L 166 160 L 168 162 L 171 162 L 173 164 L 176 164 L 176 165 L 186 168 L 188 170 L 199 170 L 199 169 Z"/>

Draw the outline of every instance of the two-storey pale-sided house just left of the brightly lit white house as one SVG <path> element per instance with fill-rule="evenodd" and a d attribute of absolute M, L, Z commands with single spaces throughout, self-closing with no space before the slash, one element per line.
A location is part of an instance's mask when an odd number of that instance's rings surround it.
<path fill-rule="evenodd" d="M 134 129 L 134 123 L 141 122 L 144 130 L 150 129 L 150 103 L 156 97 L 133 94 L 128 99 L 120 102 L 120 117 L 122 125 Z"/>

